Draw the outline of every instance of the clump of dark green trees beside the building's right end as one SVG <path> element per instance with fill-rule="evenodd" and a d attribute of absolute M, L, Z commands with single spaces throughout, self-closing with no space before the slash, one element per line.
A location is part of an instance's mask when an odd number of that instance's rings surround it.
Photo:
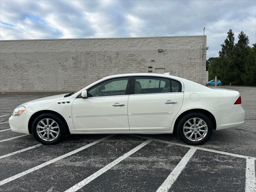
<path fill-rule="evenodd" d="M 214 76 L 218 76 L 224 85 L 229 83 L 232 85 L 253 84 L 256 74 L 252 64 L 252 55 L 255 52 L 250 51 L 249 38 L 241 31 L 236 44 L 234 40 L 234 33 L 230 29 L 221 45 L 219 57 L 208 59 L 209 78 L 213 79 Z"/>

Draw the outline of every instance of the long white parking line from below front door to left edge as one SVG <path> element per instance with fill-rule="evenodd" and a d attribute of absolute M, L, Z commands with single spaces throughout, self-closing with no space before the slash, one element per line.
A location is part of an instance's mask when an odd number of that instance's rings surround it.
<path fill-rule="evenodd" d="M 103 141 L 103 140 L 106 140 L 106 139 L 108 139 L 108 138 L 110 138 L 110 137 L 112 137 L 112 136 L 114 136 L 114 135 L 108 135 L 108 136 L 106 136 L 106 137 L 104 137 L 104 138 L 98 139 L 98 140 L 96 140 L 96 141 L 94 141 L 94 142 L 91 142 L 91 143 L 89 143 L 89 144 L 87 144 L 87 145 L 85 145 L 85 146 L 83 146 L 83 147 L 80 147 L 80 148 L 78 148 L 78 149 L 76 149 L 76 150 L 74 150 L 74 151 L 68 152 L 68 153 L 66 153 L 66 154 L 64 154 L 64 155 L 62 155 L 62 156 L 58 156 L 58 157 L 56 157 L 56 158 L 54 158 L 54 159 L 52 159 L 52 160 L 50 160 L 50 161 L 44 162 L 44 163 L 42 163 L 42 164 L 40 164 L 40 165 L 38 165 L 38 166 L 35 166 L 35 167 L 31 168 L 31 169 L 28 169 L 28 170 L 26 170 L 26 171 L 24 171 L 24 172 L 21 172 L 21 173 L 18 173 L 18 174 L 16 174 L 16 175 L 14 175 L 14 176 L 11 176 L 11 177 L 9 177 L 9 178 L 6 178 L 6 179 L 0 181 L 0 186 L 3 185 L 3 184 L 8 183 L 8 182 L 10 182 L 10 181 L 13 181 L 13 180 L 15 180 L 15 179 L 17 179 L 17 178 L 20 178 L 20 177 L 22 177 L 22 176 L 24 176 L 24 175 L 26 175 L 26 174 L 29 174 L 29 173 L 31 173 L 31 172 L 33 172 L 33 171 L 36 171 L 36 170 L 38 170 L 38 169 L 40 169 L 40 168 L 42 168 L 42 167 L 44 167 L 44 166 L 46 166 L 46 165 L 52 164 L 52 163 L 54 163 L 54 162 L 56 162 L 56 161 L 58 161 L 58 160 L 61 160 L 61 159 L 65 158 L 65 157 L 68 157 L 68 156 L 70 156 L 70 155 L 73 155 L 73 154 L 75 154 L 75 153 L 78 153 L 78 152 L 80 152 L 80 151 L 82 151 L 82 150 L 84 150 L 84 149 L 86 149 L 86 148 L 88 148 L 88 147 L 90 147 L 90 146 L 93 146 L 93 145 L 95 145 L 95 144 L 97 144 L 97 143 L 99 143 L 99 142 L 101 142 L 101 141 Z"/>

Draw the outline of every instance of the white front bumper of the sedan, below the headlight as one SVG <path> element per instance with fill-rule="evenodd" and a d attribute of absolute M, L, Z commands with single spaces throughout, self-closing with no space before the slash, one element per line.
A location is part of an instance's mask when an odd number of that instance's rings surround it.
<path fill-rule="evenodd" d="M 28 134 L 28 120 L 29 118 L 24 113 L 20 116 L 10 116 L 9 124 L 11 130 L 18 133 Z"/>

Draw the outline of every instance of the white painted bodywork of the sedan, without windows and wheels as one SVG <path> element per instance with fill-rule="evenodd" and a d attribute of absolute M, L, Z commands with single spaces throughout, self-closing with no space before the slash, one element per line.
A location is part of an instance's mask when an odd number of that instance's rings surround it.
<path fill-rule="evenodd" d="M 155 76 L 178 80 L 182 83 L 182 92 L 76 98 L 83 90 L 99 82 L 109 78 L 128 76 Z M 66 120 L 71 134 L 172 133 L 177 118 L 183 112 L 192 109 L 210 112 L 216 120 L 216 130 L 241 126 L 245 116 L 242 105 L 234 105 L 240 96 L 239 92 L 211 89 L 167 74 L 108 76 L 86 86 L 72 96 L 64 98 L 64 95 L 50 96 L 21 104 L 26 110 L 20 116 L 9 118 L 11 130 L 29 133 L 30 118 L 42 110 L 60 114 Z M 165 104 L 167 100 L 177 101 L 177 103 Z M 124 104 L 124 106 L 112 106 L 115 103 Z"/>

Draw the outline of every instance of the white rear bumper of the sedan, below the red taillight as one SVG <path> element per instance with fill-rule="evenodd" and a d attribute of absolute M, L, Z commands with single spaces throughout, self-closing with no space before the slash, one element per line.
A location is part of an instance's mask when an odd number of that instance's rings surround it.
<path fill-rule="evenodd" d="M 244 123 L 245 112 L 241 104 L 233 105 L 230 110 L 212 111 L 216 118 L 216 130 L 241 126 Z"/>

